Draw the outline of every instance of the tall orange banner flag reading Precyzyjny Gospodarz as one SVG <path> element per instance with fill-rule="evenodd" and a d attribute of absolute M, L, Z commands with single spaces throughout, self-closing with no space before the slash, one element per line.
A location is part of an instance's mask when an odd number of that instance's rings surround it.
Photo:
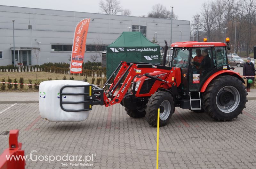
<path fill-rule="evenodd" d="M 81 20 L 75 29 L 69 73 L 82 73 L 85 42 L 91 18 Z"/>

